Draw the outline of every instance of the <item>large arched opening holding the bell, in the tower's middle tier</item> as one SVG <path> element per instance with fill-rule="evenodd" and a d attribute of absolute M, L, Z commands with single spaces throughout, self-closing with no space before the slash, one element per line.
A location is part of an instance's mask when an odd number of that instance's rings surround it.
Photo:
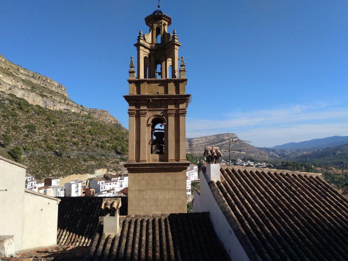
<path fill-rule="evenodd" d="M 164 154 L 164 125 L 163 121 L 155 118 L 151 123 L 151 154 Z"/>

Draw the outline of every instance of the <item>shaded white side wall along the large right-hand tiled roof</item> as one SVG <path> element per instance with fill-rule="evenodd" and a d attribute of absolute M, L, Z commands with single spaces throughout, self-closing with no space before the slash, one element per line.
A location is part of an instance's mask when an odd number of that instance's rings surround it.
<path fill-rule="evenodd" d="M 208 165 L 208 164 L 207 164 Z M 215 165 L 215 164 L 214 164 Z M 220 170 L 219 170 L 220 173 Z M 231 260 L 249 260 L 242 245 L 240 245 L 226 217 L 222 213 L 219 205 L 209 188 L 202 171 L 200 176 L 200 195 L 195 191 L 193 199 L 193 212 L 209 212 L 210 220 L 217 237 L 219 237 Z"/>

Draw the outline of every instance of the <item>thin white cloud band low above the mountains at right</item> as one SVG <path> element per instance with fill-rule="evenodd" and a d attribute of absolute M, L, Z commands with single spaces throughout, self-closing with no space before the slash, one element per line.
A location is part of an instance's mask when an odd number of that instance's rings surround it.
<path fill-rule="evenodd" d="M 236 111 L 219 119 L 188 119 L 187 137 L 237 133 L 252 145 L 272 147 L 287 142 L 348 135 L 348 108 L 329 104 Z"/>

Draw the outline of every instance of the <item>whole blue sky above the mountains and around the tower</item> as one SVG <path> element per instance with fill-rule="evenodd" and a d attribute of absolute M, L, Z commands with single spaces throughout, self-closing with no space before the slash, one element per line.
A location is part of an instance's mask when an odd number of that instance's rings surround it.
<path fill-rule="evenodd" d="M 0 0 L 0 54 L 128 127 L 128 65 L 157 1 Z M 348 135 L 347 1 L 161 1 L 183 44 L 187 137 Z"/>

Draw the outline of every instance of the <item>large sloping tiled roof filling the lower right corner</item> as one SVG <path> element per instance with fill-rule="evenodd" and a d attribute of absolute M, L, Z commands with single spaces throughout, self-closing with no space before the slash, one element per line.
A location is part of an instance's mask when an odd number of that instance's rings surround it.
<path fill-rule="evenodd" d="M 348 201 L 321 175 L 234 166 L 220 178 L 209 187 L 250 260 L 348 259 Z"/>

